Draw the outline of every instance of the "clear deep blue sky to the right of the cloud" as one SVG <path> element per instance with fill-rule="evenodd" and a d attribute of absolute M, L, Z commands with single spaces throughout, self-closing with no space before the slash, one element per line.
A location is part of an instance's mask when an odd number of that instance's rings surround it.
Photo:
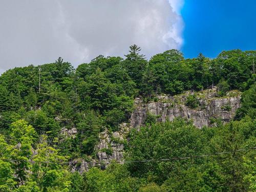
<path fill-rule="evenodd" d="M 202 52 L 216 57 L 223 50 L 256 49 L 255 0 L 185 0 L 181 51 L 186 58 Z"/>

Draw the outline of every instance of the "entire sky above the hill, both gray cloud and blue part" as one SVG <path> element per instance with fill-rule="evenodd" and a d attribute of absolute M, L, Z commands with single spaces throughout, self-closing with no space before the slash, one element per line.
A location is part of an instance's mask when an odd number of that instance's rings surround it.
<path fill-rule="evenodd" d="M 54 62 L 77 67 L 98 55 L 121 56 L 136 44 L 148 59 L 169 49 L 255 50 L 254 0 L 1 0 L 0 74 Z"/>

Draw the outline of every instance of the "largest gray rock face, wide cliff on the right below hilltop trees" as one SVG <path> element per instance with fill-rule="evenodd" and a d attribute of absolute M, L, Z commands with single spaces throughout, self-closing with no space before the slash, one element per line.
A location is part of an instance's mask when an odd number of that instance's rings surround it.
<path fill-rule="evenodd" d="M 140 99 L 136 99 L 136 109 L 131 115 L 131 126 L 139 127 L 143 125 L 146 114 L 157 116 L 157 121 L 164 122 L 166 120 L 172 121 L 176 117 L 191 119 L 194 125 L 201 128 L 202 126 L 211 126 L 211 119 L 221 119 L 223 122 L 230 121 L 236 110 L 240 107 L 241 95 L 227 96 L 225 98 L 218 98 L 215 90 L 205 90 L 199 93 L 198 101 L 199 107 L 197 109 L 190 109 L 185 105 L 187 92 L 179 96 L 159 96 L 159 101 L 143 103 Z"/>

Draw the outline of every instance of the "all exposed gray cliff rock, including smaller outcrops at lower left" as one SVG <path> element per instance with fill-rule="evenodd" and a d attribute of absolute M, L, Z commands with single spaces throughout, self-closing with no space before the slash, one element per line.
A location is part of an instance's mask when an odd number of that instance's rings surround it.
<path fill-rule="evenodd" d="M 196 94 L 198 107 L 191 109 L 186 106 L 187 97 Z M 204 90 L 201 92 L 186 92 L 181 95 L 159 95 L 154 101 L 143 102 L 142 98 L 135 99 L 135 109 L 131 114 L 130 123 L 119 125 L 119 131 L 110 133 L 107 129 L 99 134 L 99 143 L 95 146 L 96 160 L 94 162 L 122 161 L 124 155 L 124 144 L 127 142 L 126 135 L 131 129 L 139 129 L 144 125 L 148 116 L 154 116 L 156 121 L 172 121 L 177 117 L 193 120 L 195 126 L 201 129 L 202 126 L 213 126 L 215 120 L 222 122 L 230 121 L 240 107 L 241 93 L 230 91 L 225 97 L 217 97 L 216 89 Z M 63 127 L 62 134 L 75 137 L 76 130 L 68 131 Z M 84 160 L 80 165 L 72 166 L 72 170 L 80 173 L 88 170 L 89 165 Z M 75 161 L 74 161 L 75 162 Z M 96 164 L 95 164 L 96 165 Z M 90 165 L 91 166 L 91 165 Z M 103 164 L 101 166 L 104 166 Z"/>

